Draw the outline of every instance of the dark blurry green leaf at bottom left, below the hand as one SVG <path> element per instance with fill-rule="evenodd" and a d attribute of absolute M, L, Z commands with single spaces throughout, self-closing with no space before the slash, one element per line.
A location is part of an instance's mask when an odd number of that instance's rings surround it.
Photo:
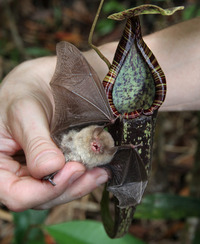
<path fill-rule="evenodd" d="M 48 211 L 27 210 L 21 213 L 13 213 L 15 224 L 16 244 L 31 244 L 34 241 L 44 243 L 43 233 L 39 225 L 44 222 Z"/>

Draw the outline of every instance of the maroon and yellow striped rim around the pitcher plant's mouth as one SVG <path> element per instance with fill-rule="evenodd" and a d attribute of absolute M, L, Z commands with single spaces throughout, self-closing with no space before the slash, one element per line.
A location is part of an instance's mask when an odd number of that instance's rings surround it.
<path fill-rule="evenodd" d="M 144 108 L 142 106 L 131 112 L 123 112 L 123 114 L 121 114 L 120 111 L 118 111 L 118 109 L 116 108 L 113 101 L 113 88 L 116 83 L 116 79 L 122 69 L 122 65 L 128 57 L 131 47 L 133 45 L 136 46 L 136 51 L 139 55 L 142 56 L 151 72 L 155 85 L 155 95 L 152 104 L 150 104 L 149 107 Z M 130 65 L 134 66 L 134 64 Z M 141 81 L 139 80 L 139 82 Z M 165 76 L 155 56 L 142 39 L 139 17 L 132 17 L 127 20 L 123 36 L 117 47 L 117 51 L 111 68 L 103 81 L 103 85 L 105 87 L 111 109 L 115 116 L 122 115 L 124 118 L 133 119 L 137 118 L 141 114 L 151 115 L 154 110 L 157 110 L 162 105 L 166 95 Z M 134 103 L 134 101 L 132 102 Z"/>

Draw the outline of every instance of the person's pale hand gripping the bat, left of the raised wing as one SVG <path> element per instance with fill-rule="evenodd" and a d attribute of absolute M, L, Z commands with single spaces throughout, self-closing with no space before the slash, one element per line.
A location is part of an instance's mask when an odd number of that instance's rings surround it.
<path fill-rule="evenodd" d="M 100 168 L 86 171 L 78 162 L 65 164 L 51 140 L 49 81 L 55 64 L 55 57 L 24 62 L 0 86 L 0 202 L 13 211 L 46 209 L 72 201 L 108 178 Z M 26 165 L 14 157 L 21 149 Z M 41 180 L 56 171 L 56 186 Z"/>

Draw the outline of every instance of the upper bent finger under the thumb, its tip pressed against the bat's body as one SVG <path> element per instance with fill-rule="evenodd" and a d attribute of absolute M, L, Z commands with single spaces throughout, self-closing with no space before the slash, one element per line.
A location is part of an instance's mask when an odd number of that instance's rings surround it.
<path fill-rule="evenodd" d="M 12 211 L 34 208 L 54 198 L 60 198 L 65 189 L 73 185 L 84 172 L 85 167 L 82 164 L 70 162 L 55 176 L 56 186 L 52 186 L 47 181 L 31 176 L 18 177 L 10 171 L 0 169 L 0 202 Z"/>

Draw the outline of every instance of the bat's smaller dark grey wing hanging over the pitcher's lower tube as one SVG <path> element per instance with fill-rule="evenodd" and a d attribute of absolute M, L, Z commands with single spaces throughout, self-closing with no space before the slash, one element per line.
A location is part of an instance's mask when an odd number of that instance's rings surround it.
<path fill-rule="evenodd" d="M 147 186 L 147 173 L 141 157 L 133 148 L 119 150 L 106 167 L 112 172 L 107 190 L 119 201 L 119 207 L 136 206 Z"/>

